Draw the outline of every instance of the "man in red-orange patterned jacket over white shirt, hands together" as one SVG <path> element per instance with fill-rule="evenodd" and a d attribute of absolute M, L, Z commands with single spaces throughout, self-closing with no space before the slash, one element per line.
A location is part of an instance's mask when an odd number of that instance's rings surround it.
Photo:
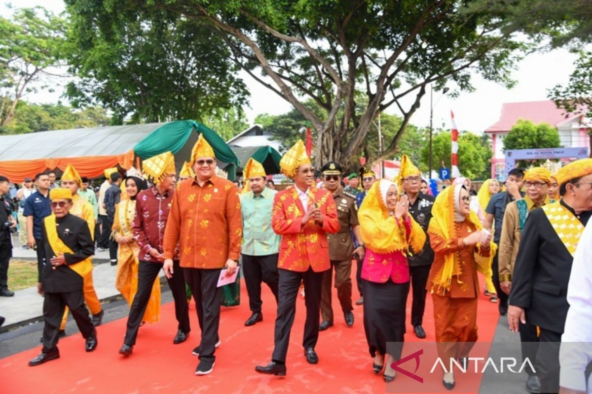
<path fill-rule="evenodd" d="M 318 363 L 314 346 L 318 339 L 321 285 L 324 271 L 330 268 L 327 233 L 339 231 L 339 220 L 331 193 L 313 185 L 314 168 L 301 140 L 286 152 L 279 165 L 295 185 L 277 193 L 274 198 L 272 226 L 282 236 L 278 258 L 275 349 L 271 363 L 257 366 L 255 370 L 285 376 L 290 330 L 301 281 L 304 281 L 306 305 L 304 356 L 308 363 Z"/>

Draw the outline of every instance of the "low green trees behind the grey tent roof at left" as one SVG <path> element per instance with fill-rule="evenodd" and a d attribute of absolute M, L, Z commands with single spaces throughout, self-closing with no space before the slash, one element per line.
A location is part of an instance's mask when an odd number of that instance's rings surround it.
<path fill-rule="evenodd" d="M 14 118 L 4 126 L 4 132 L 20 134 L 107 126 L 110 123 L 111 118 L 105 109 L 98 107 L 74 110 L 61 103 L 29 104 L 21 101 L 17 105 Z"/>

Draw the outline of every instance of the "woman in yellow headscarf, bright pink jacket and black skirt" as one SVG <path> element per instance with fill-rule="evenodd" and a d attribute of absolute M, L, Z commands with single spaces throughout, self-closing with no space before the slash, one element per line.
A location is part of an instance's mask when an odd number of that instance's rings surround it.
<path fill-rule="evenodd" d="M 368 190 L 358 211 L 366 255 L 362 263 L 364 331 L 374 357 L 374 373 L 385 366 L 383 379 L 391 382 L 391 364 L 401 358 L 402 346 L 389 349 L 387 342 L 402 344 L 410 273 L 407 252 L 419 253 L 426 233 L 409 214 L 407 196 L 398 200 L 397 185 L 379 180 Z"/>

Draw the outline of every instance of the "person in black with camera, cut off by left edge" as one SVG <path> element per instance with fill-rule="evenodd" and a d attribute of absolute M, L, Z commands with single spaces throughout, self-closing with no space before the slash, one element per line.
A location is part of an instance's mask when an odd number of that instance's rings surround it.
<path fill-rule="evenodd" d="M 12 297 L 8 289 L 8 263 L 12 257 L 12 233 L 17 222 L 12 217 L 12 204 L 8 196 L 8 178 L 0 175 L 0 297 Z"/>

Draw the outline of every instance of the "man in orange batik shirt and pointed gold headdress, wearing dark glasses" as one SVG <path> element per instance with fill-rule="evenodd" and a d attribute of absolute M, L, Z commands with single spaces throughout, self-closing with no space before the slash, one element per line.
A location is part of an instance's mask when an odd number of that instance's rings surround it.
<path fill-rule="evenodd" d="M 185 275 L 195 299 L 201 343 L 193 351 L 200 356 L 195 375 L 214 368 L 219 345 L 220 271 L 233 275 L 237 269 L 243 224 L 236 186 L 215 175 L 214 150 L 200 134 L 191 151 L 195 177 L 179 186 L 170 207 L 164 239 L 165 275 Z M 179 244 L 184 273 L 173 272 L 173 255 Z"/>

